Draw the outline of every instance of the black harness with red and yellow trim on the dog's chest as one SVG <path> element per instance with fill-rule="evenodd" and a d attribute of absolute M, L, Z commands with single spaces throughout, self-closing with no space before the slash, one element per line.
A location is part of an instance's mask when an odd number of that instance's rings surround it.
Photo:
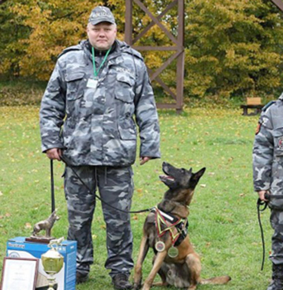
<path fill-rule="evenodd" d="M 155 226 L 158 237 L 169 231 L 173 246 L 178 246 L 188 234 L 188 218 L 178 218 L 170 213 L 164 213 L 155 206 L 151 212 L 155 213 Z"/>

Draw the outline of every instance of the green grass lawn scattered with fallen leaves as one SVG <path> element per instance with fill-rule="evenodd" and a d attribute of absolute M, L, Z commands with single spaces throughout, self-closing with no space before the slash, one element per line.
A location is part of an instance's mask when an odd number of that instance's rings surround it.
<path fill-rule="evenodd" d="M 133 166 L 136 189 L 132 210 L 152 207 L 161 200 L 166 190 L 158 179 L 162 161 L 193 167 L 193 171 L 207 167 L 190 206 L 189 233 L 201 255 L 202 277 L 230 275 L 232 280 L 224 286 L 199 286 L 200 290 L 264 290 L 271 277 L 270 261 L 266 260 L 265 270 L 260 271 L 262 246 L 257 195 L 252 188 L 251 151 L 258 116 L 243 117 L 241 113 L 238 109 L 186 108 L 176 115 L 173 110 L 160 110 L 162 158 Z M 38 107 L 0 107 L 0 160 L 1 269 L 7 239 L 29 236 L 29 224 L 50 213 L 50 163 L 40 150 Z M 55 162 L 54 170 L 61 219 L 53 235 L 66 237 L 63 164 Z M 145 216 L 132 215 L 135 261 Z M 262 214 L 262 223 L 268 256 L 272 235 L 269 210 Z M 94 264 L 89 282 L 77 286 L 77 290 L 112 289 L 104 269 L 106 236 L 99 202 L 92 229 Z M 143 265 L 143 278 L 150 271 L 151 257 L 150 252 Z"/>

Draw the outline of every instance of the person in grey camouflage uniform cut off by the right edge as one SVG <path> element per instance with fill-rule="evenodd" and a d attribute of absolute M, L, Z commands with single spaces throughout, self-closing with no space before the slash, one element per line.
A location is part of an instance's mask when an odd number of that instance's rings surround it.
<path fill-rule="evenodd" d="M 271 194 L 272 283 L 268 290 L 283 290 L 283 94 L 268 103 L 262 111 L 253 147 L 254 190 L 262 201 Z"/>

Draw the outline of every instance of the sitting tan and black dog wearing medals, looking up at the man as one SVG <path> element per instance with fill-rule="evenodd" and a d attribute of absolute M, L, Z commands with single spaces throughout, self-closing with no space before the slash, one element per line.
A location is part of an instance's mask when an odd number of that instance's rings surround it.
<path fill-rule="evenodd" d="M 159 178 L 169 189 L 156 210 L 148 214 L 145 219 L 140 252 L 135 266 L 134 290 L 141 288 L 141 268 L 149 247 L 154 250 L 155 256 L 153 267 L 144 281 L 142 290 L 149 290 L 151 285 L 171 285 L 176 288 L 195 290 L 198 284 L 227 283 L 231 279 L 229 276 L 201 279 L 200 257 L 195 252 L 186 230 L 188 206 L 206 168 L 193 173 L 192 168 L 190 170 L 175 168 L 163 162 L 162 169 L 165 175 L 160 175 Z M 173 221 L 171 223 L 166 221 L 166 217 Z M 174 240 L 176 236 L 179 236 L 177 241 Z M 172 248 L 173 252 L 171 252 Z M 152 284 L 157 273 L 162 281 Z"/>

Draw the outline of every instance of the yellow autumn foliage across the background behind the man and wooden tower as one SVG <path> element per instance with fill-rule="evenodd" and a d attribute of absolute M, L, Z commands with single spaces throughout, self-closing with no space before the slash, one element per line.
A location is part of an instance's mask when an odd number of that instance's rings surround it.
<path fill-rule="evenodd" d="M 158 15 L 172 0 L 143 0 Z M 125 0 L 9 0 L 0 4 L 0 74 L 47 80 L 58 54 L 86 37 L 90 10 L 108 5 L 124 39 Z M 151 19 L 133 4 L 133 35 Z M 283 80 L 283 12 L 270 0 L 190 0 L 185 5 L 185 94 L 277 95 Z M 177 7 L 161 18 L 173 35 Z M 154 25 L 136 45 L 171 46 Z M 143 53 L 155 70 L 172 52 Z M 161 74 L 175 87 L 173 63 Z"/>

